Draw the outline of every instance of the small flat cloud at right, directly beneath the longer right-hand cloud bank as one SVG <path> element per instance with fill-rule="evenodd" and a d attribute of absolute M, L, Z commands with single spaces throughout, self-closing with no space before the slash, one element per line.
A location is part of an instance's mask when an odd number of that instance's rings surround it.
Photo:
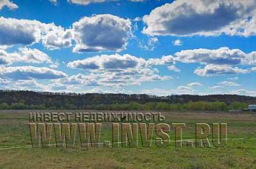
<path fill-rule="evenodd" d="M 250 70 L 230 67 L 229 65 L 206 65 L 204 68 L 197 68 L 194 71 L 198 76 L 248 74 Z"/>

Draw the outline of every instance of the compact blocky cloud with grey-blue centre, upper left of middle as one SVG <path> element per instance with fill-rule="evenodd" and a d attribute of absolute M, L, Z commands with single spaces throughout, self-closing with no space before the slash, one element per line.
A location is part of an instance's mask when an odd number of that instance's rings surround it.
<path fill-rule="evenodd" d="M 98 14 L 75 22 L 73 34 L 73 52 L 120 51 L 131 35 L 131 22 L 111 14 Z"/>

